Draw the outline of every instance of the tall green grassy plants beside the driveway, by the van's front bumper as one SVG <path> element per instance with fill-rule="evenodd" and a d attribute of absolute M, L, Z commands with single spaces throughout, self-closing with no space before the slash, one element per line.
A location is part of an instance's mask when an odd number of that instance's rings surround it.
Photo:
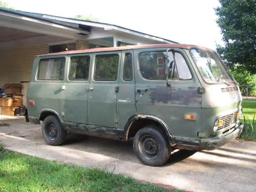
<path fill-rule="evenodd" d="M 252 120 L 244 116 L 244 129 L 240 138 L 246 140 L 256 140 L 256 118 L 255 114 Z"/>

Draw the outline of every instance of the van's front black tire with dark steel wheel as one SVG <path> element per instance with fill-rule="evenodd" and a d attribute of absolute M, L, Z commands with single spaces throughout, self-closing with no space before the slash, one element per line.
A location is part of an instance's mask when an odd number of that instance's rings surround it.
<path fill-rule="evenodd" d="M 137 158 L 148 166 L 161 166 L 169 158 L 172 147 L 165 132 L 151 125 L 140 129 L 133 140 L 133 149 Z"/>

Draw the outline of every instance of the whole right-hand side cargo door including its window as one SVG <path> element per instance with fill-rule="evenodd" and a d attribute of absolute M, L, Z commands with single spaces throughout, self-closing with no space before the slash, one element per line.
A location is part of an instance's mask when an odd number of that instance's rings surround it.
<path fill-rule="evenodd" d="M 117 128 L 116 96 L 118 93 L 121 52 L 95 53 L 92 57 L 88 91 L 88 123 Z"/>

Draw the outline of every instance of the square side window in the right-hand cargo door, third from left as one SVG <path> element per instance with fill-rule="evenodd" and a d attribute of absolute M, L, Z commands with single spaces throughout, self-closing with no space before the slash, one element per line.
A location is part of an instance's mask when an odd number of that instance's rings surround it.
<path fill-rule="evenodd" d="M 95 59 L 94 80 L 115 81 L 118 72 L 118 54 L 97 55 Z"/>

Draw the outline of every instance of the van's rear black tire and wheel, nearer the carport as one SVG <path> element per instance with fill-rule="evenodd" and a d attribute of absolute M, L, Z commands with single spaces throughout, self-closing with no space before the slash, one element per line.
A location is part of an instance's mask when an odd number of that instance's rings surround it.
<path fill-rule="evenodd" d="M 42 124 L 42 134 L 44 140 L 49 145 L 60 145 L 65 142 L 67 131 L 62 128 L 62 125 L 56 116 L 48 116 Z"/>

